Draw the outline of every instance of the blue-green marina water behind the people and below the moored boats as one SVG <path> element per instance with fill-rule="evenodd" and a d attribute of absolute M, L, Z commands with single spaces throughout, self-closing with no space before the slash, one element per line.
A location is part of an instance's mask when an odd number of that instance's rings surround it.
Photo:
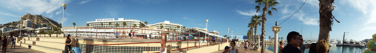
<path fill-rule="evenodd" d="M 261 45 L 260 45 L 261 46 Z M 279 45 L 278 45 L 279 48 Z M 353 51 L 356 51 L 356 53 L 359 53 L 358 50 L 365 48 L 368 49 L 367 47 L 356 47 L 356 46 L 343 46 L 343 53 L 350 53 Z M 274 45 L 273 44 L 267 44 L 267 49 L 270 51 L 274 51 Z M 279 49 L 278 49 L 279 51 Z M 308 53 L 309 48 L 304 51 L 304 53 Z M 342 53 L 342 46 L 329 46 L 329 53 Z M 355 53 L 355 52 L 353 52 Z M 361 51 L 361 53 L 363 53 Z"/>

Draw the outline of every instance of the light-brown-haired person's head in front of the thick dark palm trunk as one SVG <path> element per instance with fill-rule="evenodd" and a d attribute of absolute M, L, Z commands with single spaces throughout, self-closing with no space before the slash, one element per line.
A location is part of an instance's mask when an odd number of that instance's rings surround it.
<path fill-rule="evenodd" d="M 329 53 L 329 45 L 326 40 L 321 39 L 316 45 L 317 53 Z"/>

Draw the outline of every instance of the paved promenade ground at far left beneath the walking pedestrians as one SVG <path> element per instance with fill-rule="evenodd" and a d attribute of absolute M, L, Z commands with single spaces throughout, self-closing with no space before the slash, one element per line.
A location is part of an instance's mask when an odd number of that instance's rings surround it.
<path fill-rule="evenodd" d="M 9 44 L 8 49 L 6 50 L 6 53 L 44 53 L 42 51 L 37 51 L 37 50 L 29 49 L 26 47 L 21 47 L 20 45 L 16 45 L 15 48 L 16 49 L 11 49 L 11 44 Z"/>

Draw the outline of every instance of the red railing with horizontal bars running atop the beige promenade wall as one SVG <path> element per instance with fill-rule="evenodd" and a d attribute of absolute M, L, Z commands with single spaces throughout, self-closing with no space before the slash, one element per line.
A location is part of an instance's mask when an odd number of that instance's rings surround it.
<path fill-rule="evenodd" d="M 80 28 L 80 27 L 79 27 Z M 99 27 L 82 27 L 82 28 L 95 28 L 95 29 L 139 29 L 139 28 L 99 28 Z M 142 29 L 142 30 L 152 30 L 152 29 Z M 160 32 L 162 32 L 163 30 L 156 30 L 156 31 L 160 31 Z M 77 31 L 77 29 L 76 29 L 76 36 L 77 35 L 81 35 L 81 34 L 77 34 L 77 32 L 85 32 L 85 31 Z M 163 32 L 170 32 L 170 31 L 163 31 Z M 97 33 L 129 33 L 129 32 L 93 32 L 93 33 L 96 33 L 96 35 L 86 35 L 86 36 L 103 36 L 103 35 L 97 35 Z M 180 33 L 180 32 L 172 32 L 172 33 Z M 161 35 L 161 34 L 148 34 L 148 33 L 140 33 L 140 34 L 146 34 L 146 35 Z M 190 33 L 183 33 L 183 34 L 190 34 Z M 195 34 L 190 34 L 190 35 L 195 35 Z M 177 39 L 177 35 L 167 35 L 167 36 L 174 36 L 175 38 L 167 38 L 167 39 Z M 197 36 L 201 36 L 201 37 L 208 37 L 208 36 L 203 36 L 203 35 L 197 35 Z M 115 37 L 139 37 L 139 38 L 141 38 L 141 40 L 142 39 L 144 39 L 144 38 L 159 38 L 159 37 L 144 37 L 144 35 L 143 36 L 135 36 L 135 35 L 133 35 L 133 36 L 126 36 L 126 35 L 118 35 L 118 36 L 115 36 Z M 187 49 L 188 50 L 188 48 L 192 48 L 192 47 L 199 47 L 200 48 L 200 46 L 204 46 L 204 45 L 201 45 L 200 43 L 199 43 L 199 46 L 191 46 L 191 47 L 189 47 L 189 45 L 188 45 L 188 42 L 189 41 L 196 41 L 197 42 L 197 40 L 207 40 L 207 44 L 206 44 L 206 46 L 208 46 L 209 45 L 209 42 L 212 42 L 211 40 L 220 40 L 220 41 L 217 41 L 218 43 L 214 43 L 214 44 L 219 44 L 219 43 L 223 43 L 223 42 L 226 42 L 225 40 L 226 39 L 208 39 L 208 38 L 204 38 L 204 39 L 189 39 L 189 38 L 194 38 L 194 37 L 190 37 L 190 36 L 185 36 L 185 37 L 187 37 L 186 39 L 187 40 L 180 40 L 180 41 L 187 41 L 187 47 L 185 47 L 185 48 L 178 48 L 178 49 L 174 49 L 174 50 L 172 50 L 172 51 L 177 51 L 177 50 L 182 50 L 182 49 Z M 97 38 L 97 37 L 96 37 Z M 182 38 L 182 39 L 184 39 L 184 38 Z M 124 44 L 148 44 L 148 53 L 149 53 L 149 43 L 160 43 L 161 41 L 158 41 L 158 42 L 137 42 L 137 43 L 121 43 L 121 44 L 86 44 L 86 46 L 87 45 L 124 45 Z M 170 44 L 171 44 L 171 42 L 179 42 L 179 41 L 167 41 L 167 42 L 170 42 Z M 167 43 L 166 43 L 167 44 Z M 172 45 L 171 45 L 172 46 Z M 86 49 L 86 51 L 87 51 L 87 49 Z M 158 52 L 156 52 L 156 53 L 158 53 Z"/>

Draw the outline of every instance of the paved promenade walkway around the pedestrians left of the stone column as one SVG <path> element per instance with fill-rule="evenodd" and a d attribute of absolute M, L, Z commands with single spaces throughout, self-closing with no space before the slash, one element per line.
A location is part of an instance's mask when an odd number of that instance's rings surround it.
<path fill-rule="evenodd" d="M 240 44 L 240 47 L 236 47 L 236 48 L 238 49 L 239 53 L 244 53 L 244 44 Z M 221 48 L 221 49 L 222 50 L 215 51 L 215 52 L 212 52 L 212 53 L 222 53 L 224 51 L 224 48 Z M 256 50 L 253 50 L 253 47 L 248 47 L 248 53 L 261 53 L 261 51 L 256 51 Z M 265 53 L 273 53 L 273 51 L 265 49 Z"/>

